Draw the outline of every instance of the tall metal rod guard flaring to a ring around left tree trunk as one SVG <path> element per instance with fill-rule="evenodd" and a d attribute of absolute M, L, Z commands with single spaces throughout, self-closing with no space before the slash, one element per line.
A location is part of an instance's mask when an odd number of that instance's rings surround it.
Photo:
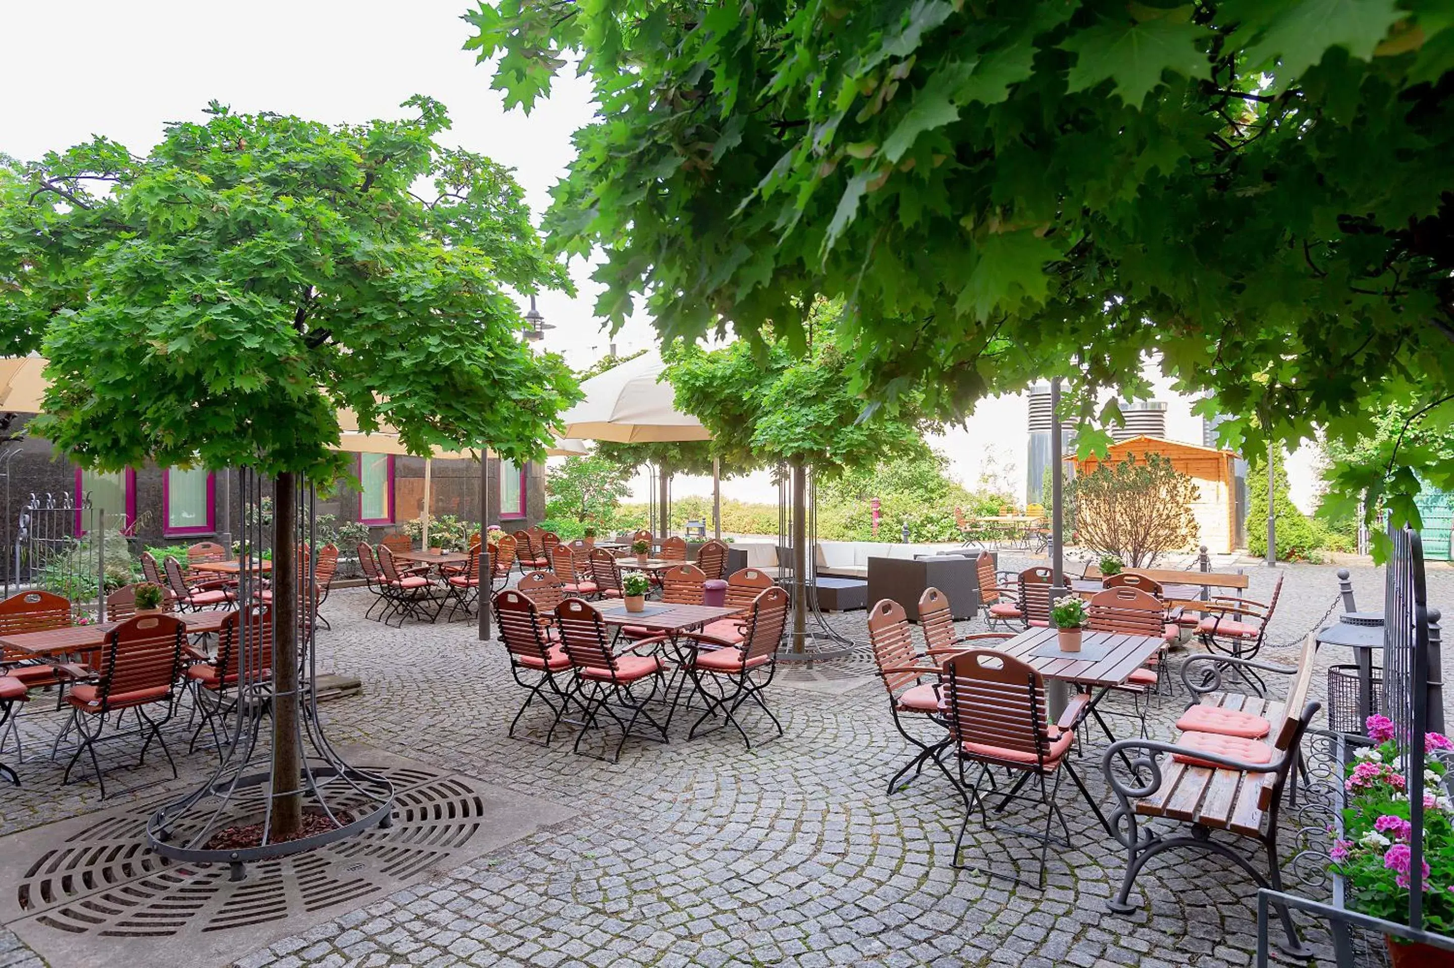
<path fill-rule="evenodd" d="M 154 852 L 185 863 L 228 865 L 233 881 L 246 878 L 249 863 L 302 853 L 369 827 L 388 827 L 394 811 L 393 783 L 349 766 L 329 743 L 318 718 L 311 608 L 317 600 L 317 560 L 310 554 L 314 488 L 302 478 L 297 487 L 278 487 L 246 468 L 237 477 L 241 500 L 236 533 L 243 542 L 238 558 L 243 608 L 234 645 L 237 685 L 199 699 L 212 706 L 209 738 L 221 749 L 220 763 L 201 786 L 160 807 L 147 821 L 147 840 Z M 270 509 L 265 506 L 269 499 Z M 272 515 L 295 516 L 298 554 L 307 557 L 297 567 L 272 574 L 275 594 L 265 606 L 262 578 L 270 562 L 263 549 Z M 297 660 L 275 661 L 273 641 L 289 625 Z M 204 728 L 202 737 L 208 733 Z M 298 775 L 278 791 L 273 757 L 288 747 L 297 754 Z M 278 840 L 276 810 L 291 798 L 301 799 L 302 836 Z"/>

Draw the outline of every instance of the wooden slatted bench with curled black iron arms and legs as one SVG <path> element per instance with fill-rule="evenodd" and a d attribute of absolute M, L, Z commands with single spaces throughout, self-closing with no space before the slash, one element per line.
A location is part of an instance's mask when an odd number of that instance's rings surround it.
<path fill-rule="evenodd" d="M 1309 635 L 1303 645 L 1303 661 L 1281 709 L 1265 699 L 1237 698 L 1234 693 L 1207 693 L 1204 698 L 1223 705 L 1239 703 L 1237 708 L 1248 712 L 1274 714 L 1272 734 L 1261 744 L 1266 762 L 1255 762 L 1259 759 L 1255 756 L 1253 747 L 1258 746 L 1255 741 L 1233 743 L 1229 737 L 1205 740 L 1213 734 L 1192 733 L 1182 734 L 1181 743 L 1176 744 L 1157 740 L 1120 740 L 1105 751 L 1102 769 L 1106 783 L 1120 801 L 1111 815 L 1111 826 L 1127 849 L 1125 878 L 1121 881 L 1120 892 L 1109 901 L 1112 911 L 1121 914 L 1134 911 L 1128 897 L 1137 875 L 1156 855 L 1179 847 L 1197 847 L 1221 855 L 1246 871 L 1256 887 L 1282 890 L 1277 856 L 1278 811 L 1282 788 L 1298 760 L 1303 734 L 1320 708 L 1320 703 L 1307 699 L 1316 648 L 1313 635 Z M 1232 756 L 1239 744 L 1243 759 Z M 1118 776 L 1112 769 L 1112 763 L 1121 756 L 1134 759 L 1137 773 L 1134 778 Z M 1191 833 L 1189 836 L 1152 833 L 1143 830 L 1137 818 L 1188 823 Z M 1214 840 L 1214 831 L 1256 840 L 1266 856 L 1268 874 L 1264 876 L 1240 852 Z M 1277 910 L 1287 933 L 1287 943 L 1280 946 L 1294 956 L 1310 958 L 1312 951 L 1298 940 L 1287 908 L 1277 906 Z"/>

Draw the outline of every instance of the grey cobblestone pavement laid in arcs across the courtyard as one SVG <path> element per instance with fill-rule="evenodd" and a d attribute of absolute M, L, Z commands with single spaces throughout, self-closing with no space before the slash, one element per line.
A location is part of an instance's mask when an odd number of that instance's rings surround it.
<path fill-rule="evenodd" d="M 1265 599 L 1274 573 L 1248 571 L 1250 596 Z M 1333 571 L 1275 571 L 1287 586 L 1269 638 L 1282 653 L 1291 654 L 1330 606 Z M 1355 571 L 1361 609 L 1380 606 L 1380 576 Z M 1429 592 L 1435 605 L 1454 602 L 1454 571 L 1431 568 Z M 784 674 L 771 702 L 785 737 L 759 746 L 771 724 L 749 717 L 755 743 L 744 751 L 736 734 L 686 741 L 673 724 L 670 744 L 634 740 L 611 765 L 571 754 L 560 737 L 548 749 L 506 738 L 521 696 L 500 647 L 475 641 L 473 625 L 385 629 L 362 619 L 366 602 L 362 590 L 336 593 L 327 609 L 334 631 L 320 634 L 324 664 L 365 683 L 362 696 L 326 706 L 334 740 L 464 770 L 579 812 L 259 951 L 238 962 L 246 968 L 1252 962 L 1253 891 L 1217 858 L 1163 856 L 1137 884 L 1140 910 L 1109 914 L 1105 901 L 1124 871 L 1122 850 L 1069 783 L 1061 802 L 1072 846 L 1053 852 L 1045 890 L 954 869 L 961 815 L 948 782 L 926 773 L 900 794 L 884 792 L 904 743 L 877 679 L 842 679 L 824 690 Z M 864 612 L 830 622 L 864 637 Z M 1330 661 L 1349 658 L 1320 657 Z M 855 671 L 865 669 L 859 661 Z M 1314 692 L 1323 682 L 1319 676 Z M 1162 701 L 1153 734 L 1169 735 L 1184 705 L 1179 696 Z M 26 733 L 47 734 L 55 714 L 33 712 Z M 176 738 L 173 746 L 185 750 Z M 201 753 L 177 759 L 183 783 L 208 763 Z M 1098 762 L 1088 751 L 1080 769 L 1108 804 Z M 60 770 L 48 765 L 26 765 L 22 775 L 25 789 L 0 789 L 0 834 L 100 808 L 92 782 L 60 786 Z M 170 772 L 154 763 L 118 775 L 147 789 L 113 796 L 108 807 L 170 783 Z M 1031 842 L 971 824 L 967 843 L 967 862 L 1034 876 Z M 1316 930 L 1309 937 L 1323 940 Z M 41 962 L 0 930 L 0 968 L 32 964 Z"/>

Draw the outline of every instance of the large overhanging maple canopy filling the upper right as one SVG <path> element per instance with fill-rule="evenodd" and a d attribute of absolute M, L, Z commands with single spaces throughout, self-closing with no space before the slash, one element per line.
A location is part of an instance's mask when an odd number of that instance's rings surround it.
<path fill-rule="evenodd" d="M 1101 387 L 1146 395 L 1154 352 L 1249 455 L 1450 388 L 1442 0 L 502 0 L 468 19 L 507 103 L 571 51 L 595 81 L 545 225 L 605 253 L 615 326 L 643 302 L 664 337 L 730 323 L 801 347 L 795 307 L 842 297 L 852 392 L 963 413 L 1061 375 L 1086 422 Z M 1400 461 L 1454 485 L 1421 456 Z M 1389 499 L 1410 510 L 1407 481 Z"/>

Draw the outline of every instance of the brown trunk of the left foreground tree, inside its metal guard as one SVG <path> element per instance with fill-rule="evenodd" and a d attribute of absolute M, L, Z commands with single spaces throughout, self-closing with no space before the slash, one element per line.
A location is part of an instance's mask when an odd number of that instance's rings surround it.
<path fill-rule="evenodd" d="M 272 831 L 275 842 L 292 840 L 302 827 L 302 772 L 298 749 L 298 509 L 291 472 L 273 488 L 273 766 Z"/>

